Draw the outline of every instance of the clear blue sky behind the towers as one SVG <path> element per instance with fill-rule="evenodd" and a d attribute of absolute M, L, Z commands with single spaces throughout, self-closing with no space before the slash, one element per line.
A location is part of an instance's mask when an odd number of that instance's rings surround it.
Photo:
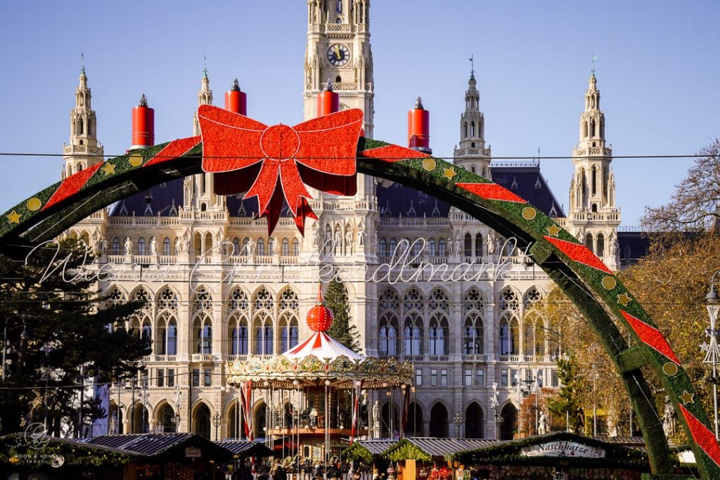
<path fill-rule="evenodd" d="M 248 114 L 302 121 L 306 1 L 6 1 L 0 150 L 61 153 L 81 67 L 106 154 L 130 145 L 141 92 L 156 141 L 192 135 L 203 55 L 215 104 L 238 77 Z M 615 155 L 697 153 L 719 134 L 720 2 L 374 0 L 375 137 L 403 144 L 420 95 L 452 154 L 474 55 L 494 156 L 569 156 L 592 55 Z M 4 211 L 58 181 L 59 157 L 0 157 Z M 667 201 L 691 160 L 613 161 L 623 225 Z M 567 206 L 570 160 L 543 160 Z"/>

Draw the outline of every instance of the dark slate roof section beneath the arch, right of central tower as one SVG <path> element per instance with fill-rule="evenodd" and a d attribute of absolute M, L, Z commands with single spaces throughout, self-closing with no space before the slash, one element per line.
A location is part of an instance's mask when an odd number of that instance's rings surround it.
<path fill-rule="evenodd" d="M 422 191 L 397 183 L 377 186 L 380 217 L 447 217 L 450 205 Z"/>

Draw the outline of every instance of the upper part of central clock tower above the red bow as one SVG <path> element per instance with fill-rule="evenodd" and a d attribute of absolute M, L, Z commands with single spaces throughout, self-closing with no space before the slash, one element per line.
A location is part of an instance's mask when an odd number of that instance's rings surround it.
<path fill-rule="evenodd" d="M 372 138 L 374 84 L 369 0 L 307 0 L 305 119 L 318 116 L 318 94 L 330 81 L 340 109 L 365 112 L 365 136 Z"/>

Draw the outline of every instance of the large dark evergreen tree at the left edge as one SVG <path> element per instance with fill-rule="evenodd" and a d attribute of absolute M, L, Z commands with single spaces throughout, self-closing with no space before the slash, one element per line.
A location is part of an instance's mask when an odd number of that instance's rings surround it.
<path fill-rule="evenodd" d="M 125 330 L 140 305 L 106 302 L 85 275 L 91 261 L 75 240 L 47 243 L 0 279 L 10 361 L 0 390 L 1 433 L 43 422 L 46 403 L 51 433 L 60 433 L 61 422 L 77 428 L 82 376 L 99 383 L 132 376 L 150 353 L 147 339 Z M 107 415 L 85 397 L 86 422 Z"/>

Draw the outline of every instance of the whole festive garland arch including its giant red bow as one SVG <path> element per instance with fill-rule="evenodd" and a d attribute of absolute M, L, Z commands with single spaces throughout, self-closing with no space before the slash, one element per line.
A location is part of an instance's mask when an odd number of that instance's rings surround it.
<path fill-rule="evenodd" d="M 2 264 L 60 235 L 90 214 L 138 191 L 203 171 L 217 194 L 257 196 L 271 231 L 283 202 L 302 231 L 315 218 L 305 186 L 356 191 L 356 173 L 397 181 L 449 204 L 528 247 L 535 261 L 575 303 L 616 366 L 630 394 L 654 474 L 672 473 L 672 456 L 640 368 L 650 366 L 675 405 L 703 478 L 720 478 L 720 446 L 680 360 L 631 292 L 554 219 L 487 178 L 416 150 L 361 136 L 362 113 L 349 110 L 288 127 L 267 127 L 203 105 L 202 135 L 130 150 L 37 192 L 0 217 Z M 628 346 L 618 325 L 634 338 Z"/>

